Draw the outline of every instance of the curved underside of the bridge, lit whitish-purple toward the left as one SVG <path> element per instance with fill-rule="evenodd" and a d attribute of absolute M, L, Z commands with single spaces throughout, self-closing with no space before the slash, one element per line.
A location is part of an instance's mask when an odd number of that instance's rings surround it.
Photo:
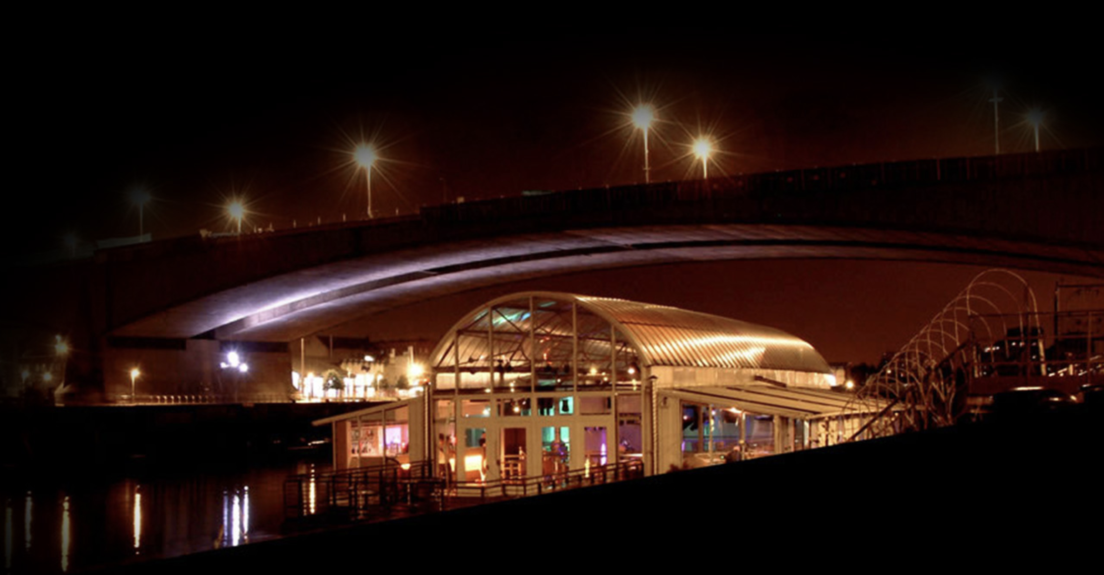
<path fill-rule="evenodd" d="M 900 230 L 657 225 L 463 241 L 347 259 L 221 291 L 113 331 L 118 337 L 293 341 L 397 306 L 560 274 L 672 263 L 857 258 L 974 264 L 1104 277 L 1089 248 Z"/>

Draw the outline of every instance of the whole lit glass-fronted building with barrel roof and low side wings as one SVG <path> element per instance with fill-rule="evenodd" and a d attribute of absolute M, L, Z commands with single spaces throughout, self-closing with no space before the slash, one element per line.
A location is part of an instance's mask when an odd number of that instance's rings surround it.
<path fill-rule="evenodd" d="M 799 338 L 574 294 L 477 307 L 437 343 L 427 374 L 421 397 L 318 422 L 335 424 L 338 468 L 386 452 L 437 459 L 460 482 L 627 459 L 651 475 L 836 443 L 862 423 Z"/>

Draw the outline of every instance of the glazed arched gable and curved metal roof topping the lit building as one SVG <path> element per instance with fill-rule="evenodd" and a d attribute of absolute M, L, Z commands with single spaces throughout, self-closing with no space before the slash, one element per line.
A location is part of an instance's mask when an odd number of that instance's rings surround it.
<path fill-rule="evenodd" d="M 431 366 L 456 382 L 461 372 L 479 375 L 470 386 L 476 392 L 512 391 L 542 379 L 548 385 L 638 382 L 656 368 L 722 370 L 731 380 L 766 377 L 803 388 L 827 390 L 834 383 L 813 345 L 775 328 L 556 291 L 510 294 L 475 308 L 440 339 Z"/>

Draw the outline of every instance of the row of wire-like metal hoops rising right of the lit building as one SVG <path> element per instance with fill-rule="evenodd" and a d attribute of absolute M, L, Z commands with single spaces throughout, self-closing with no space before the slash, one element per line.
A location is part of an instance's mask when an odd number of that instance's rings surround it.
<path fill-rule="evenodd" d="M 978 274 L 858 391 L 848 411 L 871 413 L 873 405 L 890 403 L 851 439 L 954 424 L 966 411 L 966 387 L 976 375 L 978 350 L 970 345 L 976 336 L 992 341 L 1038 333 L 1039 317 L 1034 292 L 1021 276 L 1008 269 Z M 1040 344 L 1044 361 L 1043 353 Z"/>

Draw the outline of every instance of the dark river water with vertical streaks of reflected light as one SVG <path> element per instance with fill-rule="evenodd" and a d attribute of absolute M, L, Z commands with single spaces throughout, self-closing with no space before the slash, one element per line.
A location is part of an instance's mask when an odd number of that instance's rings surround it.
<path fill-rule="evenodd" d="M 3 573 L 67 573 L 277 537 L 284 480 L 314 468 L 308 460 L 0 492 Z"/>

